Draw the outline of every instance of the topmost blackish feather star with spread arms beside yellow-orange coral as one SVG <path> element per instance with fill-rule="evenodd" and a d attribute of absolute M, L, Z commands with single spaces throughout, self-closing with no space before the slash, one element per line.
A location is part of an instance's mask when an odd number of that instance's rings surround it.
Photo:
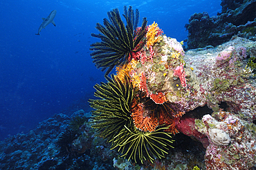
<path fill-rule="evenodd" d="M 96 38 L 101 39 L 101 42 L 91 44 L 90 50 L 93 63 L 97 68 L 102 67 L 102 71 L 107 69 L 107 76 L 113 67 L 116 65 L 125 65 L 131 61 L 132 52 L 138 52 L 145 45 L 145 35 L 147 33 L 147 19 L 143 18 L 143 23 L 140 29 L 138 27 L 139 11 L 134 10 L 129 6 L 124 7 L 126 20 L 123 23 L 118 8 L 107 12 L 108 19 L 103 19 L 103 25 L 97 23 L 96 29 L 101 34 L 91 34 Z"/>

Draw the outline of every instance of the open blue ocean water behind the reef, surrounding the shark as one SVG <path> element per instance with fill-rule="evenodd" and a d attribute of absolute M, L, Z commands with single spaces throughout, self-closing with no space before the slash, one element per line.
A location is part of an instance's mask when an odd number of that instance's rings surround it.
<path fill-rule="evenodd" d="M 104 72 L 92 63 L 90 44 L 96 23 L 107 12 L 123 6 L 140 10 L 164 34 L 178 41 L 187 38 L 184 25 L 194 12 L 221 12 L 221 0 L 163 1 L 6 1 L 0 2 L 0 140 L 26 133 L 53 114 L 73 107 L 88 109 L 93 85 Z M 35 35 L 52 10 L 56 27 L 49 24 Z"/>

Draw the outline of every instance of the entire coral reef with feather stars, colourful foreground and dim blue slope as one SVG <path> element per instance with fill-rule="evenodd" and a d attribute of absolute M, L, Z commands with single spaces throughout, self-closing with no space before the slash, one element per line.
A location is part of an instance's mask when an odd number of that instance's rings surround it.
<path fill-rule="evenodd" d="M 118 10 L 109 12 L 111 22 L 98 24 L 104 35 L 93 34 L 102 39 L 93 43 L 92 56 L 96 67 L 107 69 L 107 83 L 95 85 L 92 117 L 82 110 L 57 114 L 29 134 L 8 138 L 0 169 L 256 168 L 256 43 L 233 36 L 184 52 L 155 22 L 146 27 L 144 19 L 137 28 L 133 13 L 125 8 L 125 28 Z M 208 14 L 194 14 L 191 23 L 196 19 L 212 24 Z M 123 33 L 121 48 L 129 47 L 119 55 L 113 41 Z M 115 66 L 116 75 L 107 76 Z"/>

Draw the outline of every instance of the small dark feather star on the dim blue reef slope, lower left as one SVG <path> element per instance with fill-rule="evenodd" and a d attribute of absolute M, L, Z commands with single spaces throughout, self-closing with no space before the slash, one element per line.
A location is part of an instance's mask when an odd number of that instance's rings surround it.
<path fill-rule="evenodd" d="M 77 131 L 69 129 L 60 134 L 56 144 L 60 147 L 61 156 L 64 158 L 74 158 L 77 156 L 77 152 L 72 149 L 72 142 L 77 138 Z"/>

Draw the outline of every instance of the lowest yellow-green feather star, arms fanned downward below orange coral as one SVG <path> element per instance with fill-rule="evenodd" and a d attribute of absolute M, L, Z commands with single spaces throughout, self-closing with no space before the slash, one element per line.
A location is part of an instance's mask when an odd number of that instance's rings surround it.
<path fill-rule="evenodd" d="M 140 131 L 135 127 L 126 127 L 113 138 L 113 148 L 118 147 L 122 156 L 132 159 L 136 163 L 139 160 L 154 162 L 154 157 L 165 158 L 167 151 L 172 147 L 172 136 L 163 132 L 169 127 L 161 127 L 152 132 Z"/>

